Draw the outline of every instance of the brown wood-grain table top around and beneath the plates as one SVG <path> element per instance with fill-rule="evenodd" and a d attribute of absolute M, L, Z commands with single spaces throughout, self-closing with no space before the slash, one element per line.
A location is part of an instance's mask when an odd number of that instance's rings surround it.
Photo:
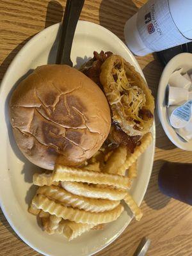
<path fill-rule="evenodd" d="M 124 40 L 125 21 L 144 3 L 145 0 L 85 0 L 81 19 L 100 24 Z M 63 10 L 65 1 L 0 0 L 0 79 L 22 46 L 42 29 L 60 22 Z M 155 54 L 137 60 L 156 97 L 163 70 L 161 63 Z M 179 150 L 168 140 L 156 116 L 156 154 L 150 183 L 141 204 L 144 216 L 139 223 L 131 221 L 123 234 L 97 256 L 130 256 L 143 236 L 152 240 L 148 256 L 192 255 L 191 207 L 164 196 L 157 187 L 159 168 L 165 161 L 192 163 L 192 153 Z M 40 255 L 13 232 L 1 210 L 0 255 Z"/>

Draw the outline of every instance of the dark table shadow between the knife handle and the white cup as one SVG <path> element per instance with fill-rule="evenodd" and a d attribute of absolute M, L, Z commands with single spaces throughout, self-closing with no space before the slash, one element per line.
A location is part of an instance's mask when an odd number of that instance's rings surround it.
<path fill-rule="evenodd" d="M 125 22 L 137 11 L 138 8 L 132 0 L 102 0 L 99 8 L 100 25 L 124 41 Z"/>

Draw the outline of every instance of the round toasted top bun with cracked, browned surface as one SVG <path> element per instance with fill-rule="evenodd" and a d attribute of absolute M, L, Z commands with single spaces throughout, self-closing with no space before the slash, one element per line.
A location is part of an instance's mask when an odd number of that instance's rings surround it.
<path fill-rule="evenodd" d="M 24 79 L 10 99 L 10 120 L 24 156 L 48 170 L 92 157 L 111 126 L 102 90 L 67 65 L 44 65 Z"/>

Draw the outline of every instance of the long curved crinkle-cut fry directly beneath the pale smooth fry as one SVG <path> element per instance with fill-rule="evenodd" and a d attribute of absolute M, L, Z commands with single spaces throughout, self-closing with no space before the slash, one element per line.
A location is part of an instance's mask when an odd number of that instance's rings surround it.
<path fill-rule="evenodd" d="M 56 186 L 40 187 L 36 193 L 48 196 L 53 200 L 70 205 L 74 208 L 91 212 L 109 211 L 120 204 L 120 200 L 111 201 L 105 199 L 86 198 L 84 196 L 74 195 L 63 188 Z"/>

